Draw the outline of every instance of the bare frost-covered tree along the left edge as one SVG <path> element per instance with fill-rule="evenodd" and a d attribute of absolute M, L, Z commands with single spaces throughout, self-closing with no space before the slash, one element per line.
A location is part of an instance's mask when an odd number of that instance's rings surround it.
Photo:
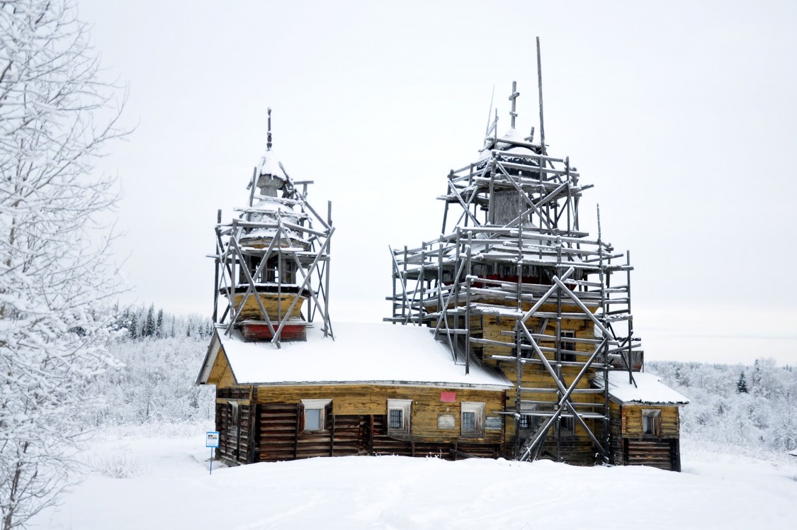
<path fill-rule="evenodd" d="M 92 164 L 116 127 L 70 0 L 0 0 L 0 528 L 73 480 L 85 383 L 112 364 L 113 179 Z"/>

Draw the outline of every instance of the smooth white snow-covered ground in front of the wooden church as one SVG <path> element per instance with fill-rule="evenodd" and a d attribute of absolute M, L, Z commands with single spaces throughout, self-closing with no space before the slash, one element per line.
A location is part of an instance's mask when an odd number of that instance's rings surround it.
<path fill-rule="evenodd" d="M 797 458 L 683 448 L 684 473 L 336 457 L 214 468 L 204 429 L 104 432 L 32 528 L 795 528 Z"/>

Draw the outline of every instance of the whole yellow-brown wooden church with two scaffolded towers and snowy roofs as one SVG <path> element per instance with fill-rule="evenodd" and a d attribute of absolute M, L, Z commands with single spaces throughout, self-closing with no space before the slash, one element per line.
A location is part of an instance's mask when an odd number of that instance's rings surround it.
<path fill-rule="evenodd" d="M 540 83 L 541 92 L 541 83 Z M 391 250 L 391 324 L 330 318 L 331 206 L 269 140 L 248 206 L 216 226 L 216 386 L 228 464 L 398 454 L 680 470 L 686 398 L 643 370 L 628 253 L 579 227 L 591 187 L 498 118 L 451 171 L 441 237 Z M 541 102 L 541 96 L 540 96 Z M 396 325 L 406 324 L 406 325 Z"/>

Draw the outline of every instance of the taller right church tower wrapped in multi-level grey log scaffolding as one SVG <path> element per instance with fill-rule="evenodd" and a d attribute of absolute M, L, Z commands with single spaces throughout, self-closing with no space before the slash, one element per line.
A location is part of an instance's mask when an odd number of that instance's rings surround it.
<path fill-rule="evenodd" d="M 540 75 L 539 40 L 537 53 Z M 541 76 L 537 143 L 533 128 L 515 128 L 517 96 L 512 83 L 509 132 L 497 134 L 496 114 L 481 157 L 450 171 L 438 197 L 442 235 L 391 249 L 393 315 L 385 320 L 430 326 L 466 372 L 481 363 L 512 379 L 503 411 L 512 456 L 567 460 L 568 435 L 577 432 L 597 461 L 609 461 L 608 388 L 591 379 L 600 371 L 606 382 L 622 369 L 633 382 L 641 362 L 630 254 L 603 241 L 600 228 L 597 238 L 580 230 L 579 200 L 592 185 L 569 157 L 548 155 Z"/>

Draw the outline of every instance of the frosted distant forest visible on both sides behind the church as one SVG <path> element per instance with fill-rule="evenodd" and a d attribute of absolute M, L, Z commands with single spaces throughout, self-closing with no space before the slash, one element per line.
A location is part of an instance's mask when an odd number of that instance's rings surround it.
<path fill-rule="evenodd" d="M 213 419 L 212 387 L 194 384 L 213 333 L 210 319 L 175 316 L 154 305 L 116 309 L 116 370 L 94 379 L 102 399 L 91 424 Z M 797 449 L 797 371 L 774 359 L 743 364 L 649 361 L 646 371 L 689 398 L 681 437 L 756 451 Z"/>

